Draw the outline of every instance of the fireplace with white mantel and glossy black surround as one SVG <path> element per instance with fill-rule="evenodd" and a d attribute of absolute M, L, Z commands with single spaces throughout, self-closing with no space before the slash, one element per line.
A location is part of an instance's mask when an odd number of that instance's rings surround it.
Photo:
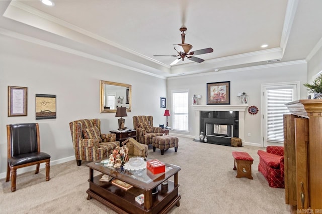
<path fill-rule="evenodd" d="M 229 145 L 231 137 L 244 140 L 245 111 L 248 105 L 194 105 L 195 140 L 201 131 L 207 143 Z"/>

